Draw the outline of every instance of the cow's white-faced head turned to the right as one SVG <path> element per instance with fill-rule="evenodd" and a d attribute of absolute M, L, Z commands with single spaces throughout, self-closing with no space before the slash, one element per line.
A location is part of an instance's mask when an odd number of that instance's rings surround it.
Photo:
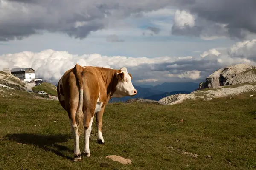
<path fill-rule="evenodd" d="M 134 96 L 137 94 L 137 90 L 131 83 L 131 74 L 127 72 L 127 68 L 125 67 L 121 68 L 120 71 L 121 72 L 116 73 L 118 82 L 116 85 L 116 91 L 112 97 Z"/>

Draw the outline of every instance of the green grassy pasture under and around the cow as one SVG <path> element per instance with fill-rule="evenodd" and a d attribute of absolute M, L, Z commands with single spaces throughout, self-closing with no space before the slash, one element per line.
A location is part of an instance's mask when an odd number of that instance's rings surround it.
<path fill-rule="evenodd" d="M 0 169 L 255 169 L 256 97 L 248 95 L 172 106 L 109 104 L 102 127 L 105 145 L 96 143 L 94 120 L 91 156 L 76 163 L 70 122 L 58 101 L 1 97 Z"/>

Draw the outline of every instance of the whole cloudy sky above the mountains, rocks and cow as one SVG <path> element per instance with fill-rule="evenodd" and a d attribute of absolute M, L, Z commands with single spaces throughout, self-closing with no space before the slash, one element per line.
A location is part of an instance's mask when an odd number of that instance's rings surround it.
<path fill-rule="evenodd" d="M 256 62 L 255 0 L 0 0 L 0 69 L 52 83 L 78 63 L 136 85 L 201 82 Z"/>

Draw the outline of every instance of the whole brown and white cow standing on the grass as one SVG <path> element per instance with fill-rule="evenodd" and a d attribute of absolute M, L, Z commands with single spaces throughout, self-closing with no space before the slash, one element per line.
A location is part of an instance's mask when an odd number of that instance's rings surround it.
<path fill-rule="evenodd" d="M 81 161 L 79 137 L 84 130 L 85 157 L 90 157 L 89 139 L 96 115 L 98 143 L 104 144 L 102 117 L 112 97 L 134 96 L 137 90 L 131 82 L 127 68 L 119 70 L 76 64 L 67 70 L 57 85 L 58 100 L 67 111 L 74 140 L 73 161 Z"/>

